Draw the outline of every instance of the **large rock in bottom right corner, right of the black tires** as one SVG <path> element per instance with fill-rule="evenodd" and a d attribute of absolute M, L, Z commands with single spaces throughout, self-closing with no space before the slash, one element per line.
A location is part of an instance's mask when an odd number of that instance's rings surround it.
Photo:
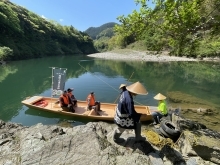
<path fill-rule="evenodd" d="M 220 164 L 220 133 L 207 129 L 205 125 L 172 116 L 173 123 L 182 134 L 176 142 L 184 156 L 199 156 L 204 160 Z"/>

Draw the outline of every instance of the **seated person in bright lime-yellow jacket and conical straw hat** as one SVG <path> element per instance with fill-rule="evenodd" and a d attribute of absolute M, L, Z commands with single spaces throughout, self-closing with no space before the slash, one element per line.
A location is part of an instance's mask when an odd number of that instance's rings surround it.
<path fill-rule="evenodd" d="M 158 107 L 157 110 L 153 110 L 151 113 L 154 119 L 153 124 L 159 124 L 160 119 L 164 116 L 167 116 L 167 104 L 165 102 L 166 96 L 162 95 L 161 93 L 158 93 L 156 96 L 154 96 L 155 100 L 158 100 Z"/>

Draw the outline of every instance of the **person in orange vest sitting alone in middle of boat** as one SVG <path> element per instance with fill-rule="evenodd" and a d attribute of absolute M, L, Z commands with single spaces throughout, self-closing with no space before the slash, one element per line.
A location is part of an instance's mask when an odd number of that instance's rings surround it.
<path fill-rule="evenodd" d="M 86 98 L 87 101 L 87 110 L 91 110 L 94 109 L 96 114 L 98 116 L 100 116 L 98 111 L 101 111 L 100 109 L 100 102 L 99 101 L 95 101 L 95 93 L 94 92 L 90 92 L 90 94 L 87 96 Z"/>

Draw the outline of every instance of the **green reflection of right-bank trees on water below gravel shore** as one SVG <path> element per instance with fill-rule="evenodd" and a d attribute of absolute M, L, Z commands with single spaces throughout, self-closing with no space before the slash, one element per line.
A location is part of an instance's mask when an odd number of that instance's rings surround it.
<path fill-rule="evenodd" d="M 181 91 L 217 103 L 219 95 L 220 65 L 211 62 L 133 62 L 96 60 L 89 68 L 107 76 L 122 76 L 130 82 L 140 81 L 153 92 Z M 152 91 L 149 91 L 152 93 Z M 150 94 L 149 93 L 149 94 Z"/>

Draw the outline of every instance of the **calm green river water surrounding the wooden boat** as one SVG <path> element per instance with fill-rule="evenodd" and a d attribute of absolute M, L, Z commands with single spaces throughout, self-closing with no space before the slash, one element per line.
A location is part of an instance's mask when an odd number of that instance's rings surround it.
<path fill-rule="evenodd" d="M 67 68 L 65 88 L 74 88 L 77 99 L 85 100 L 94 91 L 97 100 L 113 103 L 119 95 L 121 83 L 141 82 L 148 95 L 135 97 L 136 104 L 157 106 L 153 97 L 157 93 L 176 94 L 198 99 L 215 108 L 214 114 L 183 114 L 195 121 L 204 118 L 206 125 L 219 130 L 220 121 L 220 64 L 207 62 L 122 62 L 101 60 L 86 56 L 64 56 L 10 62 L 0 66 L 0 119 L 31 126 L 37 123 L 58 124 L 74 121 L 73 125 L 85 124 L 84 119 L 29 109 L 21 101 L 33 95 L 51 95 L 50 67 Z M 177 97 L 175 96 L 175 97 Z M 176 101 L 168 105 L 180 107 Z M 198 107 L 200 105 L 198 104 Z M 190 105 L 189 105 L 190 107 Z M 215 121 L 213 121 L 215 120 Z M 209 123 L 209 124 L 207 124 Z"/>

